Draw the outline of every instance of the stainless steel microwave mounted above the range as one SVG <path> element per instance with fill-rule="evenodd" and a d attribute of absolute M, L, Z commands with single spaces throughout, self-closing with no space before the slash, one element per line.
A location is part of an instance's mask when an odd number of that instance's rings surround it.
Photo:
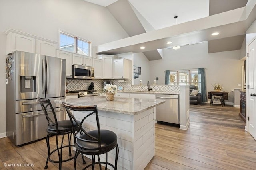
<path fill-rule="evenodd" d="M 72 65 L 72 78 L 94 79 L 94 68 L 89 66 Z"/>

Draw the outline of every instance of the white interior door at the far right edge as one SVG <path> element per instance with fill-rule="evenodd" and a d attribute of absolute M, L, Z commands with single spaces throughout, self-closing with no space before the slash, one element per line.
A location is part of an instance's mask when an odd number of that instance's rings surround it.
<path fill-rule="evenodd" d="M 256 139 L 256 39 L 248 46 L 248 99 L 249 133 Z"/>

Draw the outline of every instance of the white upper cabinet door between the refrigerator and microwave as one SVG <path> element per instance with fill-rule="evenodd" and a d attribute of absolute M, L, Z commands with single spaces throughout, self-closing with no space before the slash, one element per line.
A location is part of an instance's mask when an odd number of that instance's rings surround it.
<path fill-rule="evenodd" d="M 57 57 L 66 59 L 66 77 L 72 77 L 72 53 L 57 50 Z"/>

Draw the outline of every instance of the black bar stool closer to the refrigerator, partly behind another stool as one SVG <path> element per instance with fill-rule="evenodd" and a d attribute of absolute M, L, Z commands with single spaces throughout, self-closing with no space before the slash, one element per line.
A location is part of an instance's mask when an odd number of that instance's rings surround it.
<path fill-rule="evenodd" d="M 40 99 L 38 97 L 37 99 L 40 104 L 41 107 L 45 113 L 46 119 L 48 121 L 48 128 L 46 129 L 47 131 L 47 137 L 46 137 L 46 144 L 47 144 L 47 149 L 48 149 L 48 156 L 47 156 L 47 160 L 46 160 L 46 164 L 44 169 L 48 168 L 48 161 L 53 162 L 53 163 L 59 163 L 59 170 L 61 170 L 61 164 L 62 162 L 66 162 L 69 160 L 72 160 L 74 158 L 70 157 L 66 160 L 62 160 L 62 149 L 65 147 L 69 147 L 69 155 L 71 156 L 71 147 L 74 145 L 71 145 L 71 133 L 73 133 L 73 129 L 72 129 L 72 125 L 74 126 L 74 130 L 77 131 L 78 130 L 78 124 L 80 123 L 79 121 L 76 123 L 71 123 L 70 120 L 62 120 L 62 121 L 58 121 L 56 113 L 54 111 L 54 108 L 52 107 L 52 104 L 50 102 L 49 99 Z M 52 114 L 51 114 L 52 113 Z M 52 150 L 52 152 L 50 152 L 50 141 L 49 141 L 49 137 L 50 135 L 55 135 L 56 136 L 56 149 Z M 61 146 L 58 146 L 58 136 L 62 135 L 62 141 L 61 141 Z M 68 135 L 68 145 L 63 146 L 63 140 L 64 140 L 64 135 Z M 50 158 L 50 156 L 54 153 L 54 152 L 58 152 L 58 157 L 59 160 L 52 160 Z M 83 163 L 85 164 L 86 162 L 84 161 L 84 157 L 82 155 L 83 158 Z"/>

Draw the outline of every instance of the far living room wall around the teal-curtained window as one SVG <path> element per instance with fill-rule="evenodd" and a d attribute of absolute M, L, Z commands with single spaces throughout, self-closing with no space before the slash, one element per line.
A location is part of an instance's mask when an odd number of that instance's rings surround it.
<path fill-rule="evenodd" d="M 208 42 L 180 47 L 178 50 L 164 49 L 162 60 L 150 61 L 150 81 L 159 77 L 158 84 L 165 83 L 165 70 L 206 68 L 206 89 L 212 91 L 212 84 L 219 82 L 224 91 L 241 88 L 243 61 L 240 50 L 208 54 Z M 233 102 L 233 95 L 227 102 Z"/>

